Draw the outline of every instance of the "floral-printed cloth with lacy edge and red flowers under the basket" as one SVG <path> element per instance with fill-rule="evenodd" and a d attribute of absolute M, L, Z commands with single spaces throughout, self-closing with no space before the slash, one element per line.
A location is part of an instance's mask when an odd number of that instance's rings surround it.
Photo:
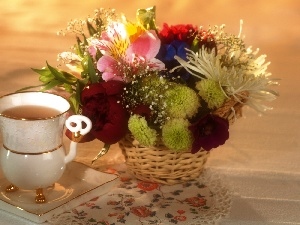
<path fill-rule="evenodd" d="M 117 186 L 71 211 L 54 216 L 51 224 L 216 224 L 231 206 L 231 192 L 216 173 L 205 170 L 198 180 L 173 186 L 139 181 L 119 173 Z"/>

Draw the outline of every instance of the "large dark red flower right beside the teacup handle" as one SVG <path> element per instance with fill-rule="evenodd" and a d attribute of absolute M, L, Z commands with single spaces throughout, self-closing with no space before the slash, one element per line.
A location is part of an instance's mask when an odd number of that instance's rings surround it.
<path fill-rule="evenodd" d="M 123 88 L 123 82 L 112 80 L 91 84 L 81 92 L 82 115 L 93 124 L 83 141 L 96 138 L 114 144 L 126 134 L 128 113 L 120 103 Z"/>

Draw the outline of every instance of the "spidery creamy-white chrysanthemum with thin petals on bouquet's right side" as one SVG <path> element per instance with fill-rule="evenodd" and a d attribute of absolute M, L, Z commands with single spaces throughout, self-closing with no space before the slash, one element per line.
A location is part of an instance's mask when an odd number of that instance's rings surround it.
<path fill-rule="evenodd" d="M 226 56 L 226 63 L 230 67 L 225 67 L 222 65 L 222 55 L 216 56 L 214 51 L 209 52 L 204 48 L 198 53 L 187 51 L 188 61 L 178 56 L 175 58 L 190 74 L 218 82 L 224 94 L 234 96 L 237 101 L 240 93 L 246 91 L 249 96 L 245 104 L 257 111 L 271 109 L 263 102 L 276 99 L 277 93 L 269 89 L 275 82 L 269 78 L 271 74 L 266 72 L 269 63 L 265 63 L 265 55 L 256 57 L 258 51 L 253 53 L 251 48 L 247 52 L 233 50 L 230 56 Z"/>

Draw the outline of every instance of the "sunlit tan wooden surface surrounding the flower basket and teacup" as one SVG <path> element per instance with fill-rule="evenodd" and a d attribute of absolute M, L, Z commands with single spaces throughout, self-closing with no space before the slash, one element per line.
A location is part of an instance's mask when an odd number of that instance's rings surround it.
<path fill-rule="evenodd" d="M 55 64 L 57 54 L 74 42 L 72 35 L 61 37 L 56 32 L 99 7 L 115 8 L 134 19 L 137 8 L 156 5 L 158 24 L 224 23 L 233 33 L 239 32 L 243 19 L 246 43 L 267 54 L 269 70 L 281 79 L 280 97 L 263 116 L 245 109 L 244 117 L 230 128 L 230 139 L 211 152 L 207 168 L 224 175 L 234 189 L 231 211 L 220 224 L 300 224 L 300 1 L 11 0 L 0 5 L 1 95 L 39 84 L 31 68 L 41 68 L 46 60 Z M 101 146 L 100 142 L 80 145 L 76 161 L 90 165 Z M 122 160 L 114 145 L 93 168 L 101 170 Z M 4 212 L 0 218 L 24 224 Z"/>

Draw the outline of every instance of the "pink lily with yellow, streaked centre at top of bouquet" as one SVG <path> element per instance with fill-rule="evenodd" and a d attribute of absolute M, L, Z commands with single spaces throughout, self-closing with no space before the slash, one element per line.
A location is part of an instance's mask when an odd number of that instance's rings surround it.
<path fill-rule="evenodd" d="M 103 54 L 97 62 L 97 69 L 102 72 L 102 78 L 108 80 L 130 80 L 125 74 L 134 75 L 139 66 L 151 70 L 163 70 L 164 63 L 155 59 L 160 48 L 160 40 L 155 31 L 145 31 L 132 43 L 124 36 L 125 26 L 115 23 L 114 29 L 104 32 L 103 39 L 94 43 Z M 93 51 L 90 51 L 92 53 Z"/>

